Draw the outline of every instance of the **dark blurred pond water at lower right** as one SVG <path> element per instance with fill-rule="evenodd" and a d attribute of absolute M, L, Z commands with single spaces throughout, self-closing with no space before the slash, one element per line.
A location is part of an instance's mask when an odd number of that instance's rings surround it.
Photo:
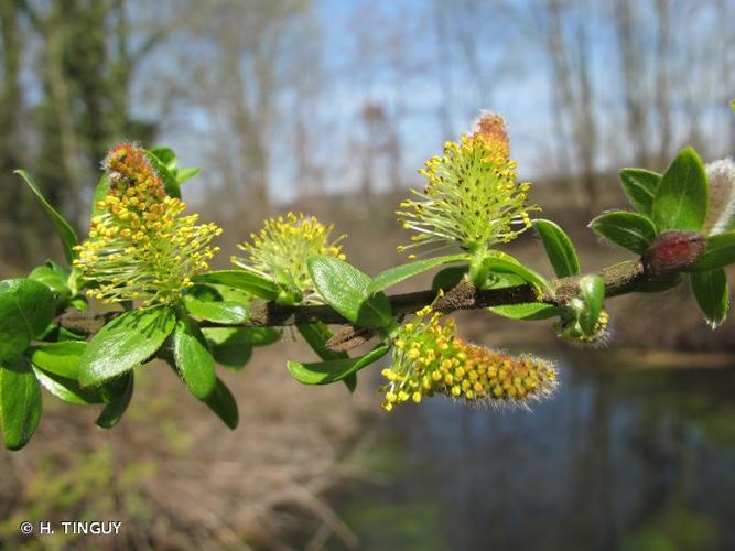
<path fill-rule="evenodd" d="M 532 412 L 431 399 L 383 415 L 377 482 L 333 499 L 359 549 L 735 549 L 735 365 L 554 355 L 559 391 Z"/>

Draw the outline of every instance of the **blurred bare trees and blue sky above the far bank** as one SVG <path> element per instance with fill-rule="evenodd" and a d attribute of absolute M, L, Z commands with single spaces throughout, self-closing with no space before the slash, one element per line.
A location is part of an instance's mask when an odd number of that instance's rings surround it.
<path fill-rule="evenodd" d="M 12 170 L 82 229 L 107 148 L 174 147 L 187 197 L 227 223 L 323 194 L 372 196 L 480 108 L 523 176 L 604 204 L 619 166 L 735 150 L 732 0 L 2 0 L 2 261 L 48 253 Z M 206 197 L 206 201 L 205 201 Z M 571 201 L 571 197 L 570 197 Z"/>

